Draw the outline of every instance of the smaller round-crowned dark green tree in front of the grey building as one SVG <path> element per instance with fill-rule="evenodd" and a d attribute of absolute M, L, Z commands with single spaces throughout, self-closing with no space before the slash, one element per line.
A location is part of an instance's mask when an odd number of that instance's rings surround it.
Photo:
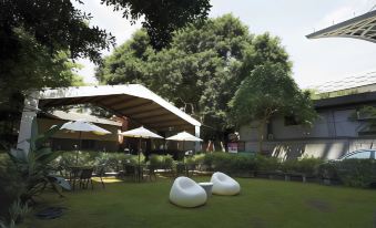
<path fill-rule="evenodd" d="M 289 116 L 311 126 L 317 114 L 309 92 L 298 89 L 284 65 L 258 65 L 243 81 L 230 102 L 231 118 L 236 125 L 258 124 L 258 151 L 262 152 L 264 129 L 275 115 Z"/>

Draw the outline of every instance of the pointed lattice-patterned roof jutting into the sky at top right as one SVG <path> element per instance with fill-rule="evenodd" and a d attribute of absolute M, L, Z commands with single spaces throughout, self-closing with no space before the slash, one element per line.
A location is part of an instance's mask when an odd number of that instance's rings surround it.
<path fill-rule="evenodd" d="M 308 34 L 307 38 L 355 38 L 376 42 L 376 10 Z"/>

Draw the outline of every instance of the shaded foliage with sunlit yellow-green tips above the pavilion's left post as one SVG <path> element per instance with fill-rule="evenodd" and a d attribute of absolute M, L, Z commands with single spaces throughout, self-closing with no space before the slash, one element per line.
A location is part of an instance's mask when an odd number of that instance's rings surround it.
<path fill-rule="evenodd" d="M 14 35 L 21 45 L 19 55 L 0 63 L 1 110 L 21 110 L 14 106 L 14 101 L 22 104 L 22 97 L 18 99 L 17 95 L 31 87 L 82 84 L 82 79 L 74 73 L 74 69 L 80 66 L 69 60 L 67 52 L 59 51 L 51 55 L 45 46 L 21 29 L 16 29 Z"/>

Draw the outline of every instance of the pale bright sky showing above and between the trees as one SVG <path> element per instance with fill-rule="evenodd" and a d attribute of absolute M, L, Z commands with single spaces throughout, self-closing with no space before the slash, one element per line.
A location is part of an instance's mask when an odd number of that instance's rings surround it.
<path fill-rule="evenodd" d="M 250 28 L 250 32 L 270 32 L 282 40 L 293 61 L 293 77 L 305 89 L 328 81 L 339 81 L 376 71 L 376 44 L 348 38 L 308 40 L 305 35 L 368 12 L 376 0 L 212 0 L 211 18 L 232 13 Z M 87 0 L 78 8 L 91 12 L 91 25 L 99 25 L 116 38 L 116 45 L 141 28 L 131 25 L 121 12 L 101 6 L 99 0 Z M 103 55 L 111 53 L 103 51 Z M 87 83 L 96 83 L 94 65 L 79 60 L 84 68 L 79 74 Z"/>

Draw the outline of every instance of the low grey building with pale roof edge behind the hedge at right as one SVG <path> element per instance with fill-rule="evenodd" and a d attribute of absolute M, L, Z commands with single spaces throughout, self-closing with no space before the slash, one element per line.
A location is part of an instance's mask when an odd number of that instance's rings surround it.
<path fill-rule="evenodd" d="M 318 99 L 315 100 L 318 118 L 312 128 L 286 116 L 273 117 L 264 131 L 263 153 L 283 159 L 304 156 L 334 159 L 348 152 L 376 147 L 376 132 L 369 127 L 370 118 L 359 113 L 364 106 L 376 106 L 376 83 L 373 82 L 376 75 L 368 74 L 368 84 L 354 79 L 318 86 Z M 257 123 L 240 128 L 240 142 L 246 152 L 258 151 Z"/>

